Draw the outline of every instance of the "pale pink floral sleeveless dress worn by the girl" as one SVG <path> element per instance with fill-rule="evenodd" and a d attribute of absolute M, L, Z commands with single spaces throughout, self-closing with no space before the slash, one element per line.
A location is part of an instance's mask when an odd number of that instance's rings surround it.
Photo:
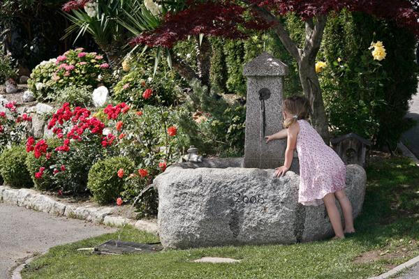
<path fill-rule="evenodd" d="M 300 160 L 298 202 L 304 205 L 323 204 L 328 193 L 343 190 L 346 167 L 335 151 L 304 119 L 298 120 L 297 153 Z"/>

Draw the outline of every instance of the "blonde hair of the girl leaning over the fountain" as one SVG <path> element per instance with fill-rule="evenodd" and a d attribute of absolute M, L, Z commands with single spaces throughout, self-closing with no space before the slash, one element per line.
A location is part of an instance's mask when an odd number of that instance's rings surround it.
<path fill-rule="evenodd" d="M 293 115 L 290 119 L 284 119 L 284 128 L 288 128 L 293 123 L 297 122 L 298 119 L 309 119 L 311 107 L 307 98 L 292 96 L 286 98 L 284 102 L 282 102 L 282 110 Z"/>

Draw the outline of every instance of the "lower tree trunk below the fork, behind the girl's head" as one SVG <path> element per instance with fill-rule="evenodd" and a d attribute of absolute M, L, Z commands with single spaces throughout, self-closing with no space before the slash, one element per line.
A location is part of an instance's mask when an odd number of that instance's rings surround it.
<path fill-rule="evenodd" d="M 298 68 L 304 96 L 309 100 L 311 105 L 311 124 L 321 135 L 325 143 L 329 144 L 330 135 L 328 119 L 325 113 L 325 106 L 314 61 L 300 61 L 300 63 L 298 63 Z"/>

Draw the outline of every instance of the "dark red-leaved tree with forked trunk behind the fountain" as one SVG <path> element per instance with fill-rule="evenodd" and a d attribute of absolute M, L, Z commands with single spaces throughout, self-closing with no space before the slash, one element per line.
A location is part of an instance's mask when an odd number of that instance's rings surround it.
<path fill-rule="evenodd" d="M 304 95 L 311 102 L 312 123 L 325 142 L 329 142 L 328 120 L 315 63 L 327 17 L 346 8 L 395 21 L 419 35 L 417 0 L 189 0 L 186 3 L 185 10 L 166 14 L 160 27 L 141 33 L 131 43 L 172 47 L 189 35 L 246 38 L 251 30 L 273 29 L 297 61 Z M 281 16 L 287 13 L 295 13 L 304 21 L 302 47 L 291 39 L 281 23 Z"/>

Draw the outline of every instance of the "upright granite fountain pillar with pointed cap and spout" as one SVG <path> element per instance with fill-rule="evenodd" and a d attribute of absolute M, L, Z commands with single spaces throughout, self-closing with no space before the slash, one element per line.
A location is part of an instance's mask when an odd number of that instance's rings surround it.
<path fill-rule="evenodd" d="M 288 66 L 267 52 L 244 66 L 243 74 L 247 77 L 244 167 L 274 169 L 284 164 L 286 141 L 266 144 L 265 136 L 282 129 L 283 76 L 286 73 Z"/>

